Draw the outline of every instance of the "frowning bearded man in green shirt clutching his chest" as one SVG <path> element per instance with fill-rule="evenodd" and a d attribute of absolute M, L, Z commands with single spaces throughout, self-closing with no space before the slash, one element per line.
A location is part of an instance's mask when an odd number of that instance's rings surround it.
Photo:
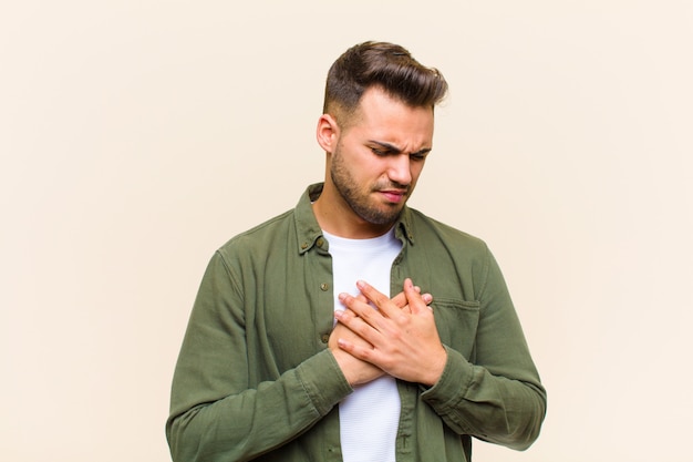
<path fill-rule="evenodd" d="M 538 437 L 546 393 L 492 254 L 405 205 L 446 91 L 390 43 L 332 65 L 324 183 L 203 278 L 166 425 L 175 461 L 468 461 L 470 437 Z"/>

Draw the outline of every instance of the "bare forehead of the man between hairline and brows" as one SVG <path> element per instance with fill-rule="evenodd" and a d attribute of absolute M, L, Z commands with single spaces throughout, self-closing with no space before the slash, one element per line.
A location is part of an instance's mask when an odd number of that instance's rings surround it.
<path fill-rule="evenodd" d="M 376 141 L 430 147 L 433 121 L 433 107 L 412 107 L 372 88 L 363 93 L 349 130 Z"/>

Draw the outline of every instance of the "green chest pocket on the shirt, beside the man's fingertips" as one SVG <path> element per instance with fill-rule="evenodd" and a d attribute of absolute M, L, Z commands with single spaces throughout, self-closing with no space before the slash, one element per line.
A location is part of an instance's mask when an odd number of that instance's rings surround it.
<path fill-rule="evenodd" d="M 474 361 L 479 302 L 434 298 L 431 307 L 441 341 Z"/>

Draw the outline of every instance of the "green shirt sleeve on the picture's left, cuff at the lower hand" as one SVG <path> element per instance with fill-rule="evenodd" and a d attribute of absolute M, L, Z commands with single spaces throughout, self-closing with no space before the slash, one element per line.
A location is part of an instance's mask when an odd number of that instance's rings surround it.
<path fill-rule="evenodd" d="M 172 387 L 174 461 L 247 461 L 297 438 L 352 390 L 322 350 L 276 380 L 251 383 L 244 294 L 219 253 L 203 277 Z"/>

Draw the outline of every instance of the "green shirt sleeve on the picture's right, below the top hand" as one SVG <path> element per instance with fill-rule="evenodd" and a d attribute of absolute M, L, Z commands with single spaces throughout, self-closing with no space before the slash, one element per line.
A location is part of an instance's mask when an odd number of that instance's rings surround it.
<path fill-rule="evenodd" d="M 457 433 L 525 450 L 539 435 L 546 390 L 488 249 L 480 287 L 474 363 L 446 346 L 443 376 L 422 398 Z"/>

